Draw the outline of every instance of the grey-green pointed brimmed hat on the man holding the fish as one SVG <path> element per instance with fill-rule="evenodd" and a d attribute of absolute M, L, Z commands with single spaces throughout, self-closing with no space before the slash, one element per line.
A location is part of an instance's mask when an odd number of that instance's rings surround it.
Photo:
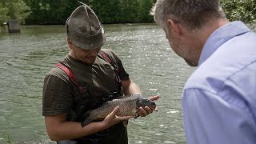
<path fill-rule="evenodd" d="M 66 20 L 66 36 L 75 46 L 85 50 L 101 47 L 106 35 L 97 15 L 89 6 L 78 6 Z"/>

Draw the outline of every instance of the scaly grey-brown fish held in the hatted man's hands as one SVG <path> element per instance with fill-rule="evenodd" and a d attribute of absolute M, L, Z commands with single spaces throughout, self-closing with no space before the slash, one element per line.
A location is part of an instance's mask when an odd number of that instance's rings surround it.
<path fill-rule="evenodd" d="M 94 120 L 104 119 L 108 114 L 110 114 L 116 106 L 119 106 L 118 116 L 135 116 L 138 117 L 137 111 L 140 107 L 148 106 L 151 110 L 154 110 L 156 105 L 154 101 L 144 98 L 141 94 L 134 94 L 130 96 L 125 96 L 124 98 L 113 99 L 104 103 L 97 109 L 87 111 L 83 114 L 83 118 L 86 118 L 84 122 L 81 123 L 82 127 L 85 127 L 90 122 Z"/>

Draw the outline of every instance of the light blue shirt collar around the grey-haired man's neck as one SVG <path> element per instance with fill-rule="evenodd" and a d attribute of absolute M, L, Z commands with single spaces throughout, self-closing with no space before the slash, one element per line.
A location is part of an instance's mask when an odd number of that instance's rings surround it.
<path fill-rule="evenodd" d="M 199 58 L 198 66 L 205 62 L 211 54 L 214 53 L 224 42 L 228 41 L 230 38 L 234 38 L 239 34 L 244 34 L 249 32 L 250 29 L 242 22 L 230 22 L 224 26 L 219 27 L 214 31 L 213 34 L 206 40 L 205 45 L 202 48 L 202 53 Z"/>

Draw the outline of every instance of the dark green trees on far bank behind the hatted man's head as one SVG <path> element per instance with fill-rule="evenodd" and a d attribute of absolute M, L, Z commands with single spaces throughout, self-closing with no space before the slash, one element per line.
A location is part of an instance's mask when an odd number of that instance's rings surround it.
<path fill-rule="evenodd" d="M 65 24 L 80 6 L 76 0 L 23 0 L 30 7 L 26 25 Z M 156 0 L 81 0 L 98 15 L 102 23 L 154 22 L 149 14 Z"/>

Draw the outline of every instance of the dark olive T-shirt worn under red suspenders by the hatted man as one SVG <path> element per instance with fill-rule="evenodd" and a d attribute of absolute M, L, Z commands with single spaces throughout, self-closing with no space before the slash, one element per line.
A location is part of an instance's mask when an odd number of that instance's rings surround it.
<path fill-rule="evenodd" d="M 92 110 L 102 102 L 106 94 L 118 92 L 119 83 L 114 72 L 114 66 L 118 66 L 118 74 L 121 80 L 129 79 L 122 66 L 121 60 L 111 50 L 103 50 L 110 62 L 98 54 L 93 64 L 86 64 L 67 55 L 62 60 L 74 74 L 79 86 L 85 86 L 86 92 L 81 93 L 78 86 L 70 80 L 69 76 L 58 67 L 52 68 L 46 75 L 42 94 L 42 115 L 68 114 L 68 121 L 80 122 L 79 115 L 86 110 Z M 88 101 L 85 101 L 89 100 Z M 122 122 L 97 134 L 91 134 L 75 140 L 78 143 L 128 143 L 126 126 Z"/>

